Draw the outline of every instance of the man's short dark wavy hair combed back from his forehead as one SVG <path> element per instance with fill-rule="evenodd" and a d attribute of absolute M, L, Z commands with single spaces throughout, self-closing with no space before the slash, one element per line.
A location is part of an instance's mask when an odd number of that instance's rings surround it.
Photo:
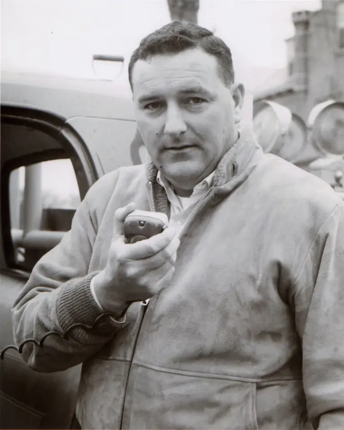
<path fill-rule="evenodd" d="M 159 54 L 177 54 L 186 49 L 200 48 L 214 55 L 220 66 L 225 85 L 234 82 L 232 53 L 220 37 L 212 31 L 185 21 L 175 21 L 159 28 L 144 37 L 139 47 L 132 53 L 129 61 L 129 83 L 132 89 L 132 68 L 138 60 Z"/>

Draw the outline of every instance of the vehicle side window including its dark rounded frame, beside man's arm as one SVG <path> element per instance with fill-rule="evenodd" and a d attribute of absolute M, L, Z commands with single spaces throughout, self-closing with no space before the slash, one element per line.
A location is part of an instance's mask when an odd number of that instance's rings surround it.
<path fill-rule="evenodd" d="M 1 120 L 1 264 L 29 272 L 70 229 L 97 175 L 63 120 L 14 108 Z"/>

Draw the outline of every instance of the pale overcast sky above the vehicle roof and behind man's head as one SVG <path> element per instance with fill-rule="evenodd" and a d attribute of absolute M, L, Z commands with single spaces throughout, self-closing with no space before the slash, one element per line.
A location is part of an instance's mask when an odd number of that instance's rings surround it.
<path fill-rule="evenodd" d="M 2 0 L 2 69 L 89 77 L 94 53 L 124 55 L 169 22 L 167 0 Z M 200 0 L 199 24 L 254 66 L 283 67 L 291 13 L 320 0 Z"/>

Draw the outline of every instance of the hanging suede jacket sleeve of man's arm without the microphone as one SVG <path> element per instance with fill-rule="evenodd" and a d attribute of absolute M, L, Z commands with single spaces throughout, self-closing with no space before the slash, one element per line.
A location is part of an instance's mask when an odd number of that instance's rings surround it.
<path fill-rule="evenodd" d="M 320 227 L 293 288 L 309 418 L 315 429 L 343 429 L 344 204 Z"/>

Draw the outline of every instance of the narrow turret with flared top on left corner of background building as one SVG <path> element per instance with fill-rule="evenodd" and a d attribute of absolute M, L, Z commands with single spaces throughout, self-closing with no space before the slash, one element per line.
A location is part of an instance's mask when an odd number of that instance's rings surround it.
<path fill-rule="evenodd" d="M 308 88 L 308 26 L 311 12 L 300 10 L 293 12 L 295 26 L 294 61 L 290 79 L 295 91 L 307 91 Z"/>

